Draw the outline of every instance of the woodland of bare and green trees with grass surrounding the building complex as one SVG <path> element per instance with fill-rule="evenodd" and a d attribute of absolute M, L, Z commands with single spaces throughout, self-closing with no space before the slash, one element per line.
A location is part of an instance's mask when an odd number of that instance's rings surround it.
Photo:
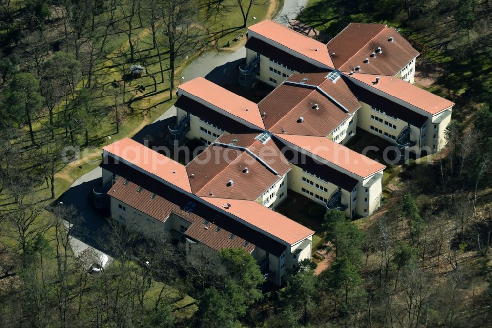
<path fill-rule="evenodd" d="M 169 235 L 117 223 L 91 236 L 116 259 L 108 270 L 90 275 L 88 257 L 75 256 L 68 240 L 84 219 L 58 197 L 99 164 L 108 136 L 172 106 L 186 58 L 223 47 L 266 7 L 0 0 L 1 327 L 490 326 L 489 0 L 313 0 L 301 13 L 330 36 L 352 21 L 398 27 L 433 81 L 421 87 L 456 102 L 447 146 L 403 165 L 404 187 L 382 211 L 359 222 L 326 213 L 318 232 L 334 260 L 321 274 L 305 261 L 265 291 L 244 251 L 186 253 Z M 132 65 L 144 69 L 138 84 Z M 60 157 L 66 146 L 87 150 L 89 163 Z"/>

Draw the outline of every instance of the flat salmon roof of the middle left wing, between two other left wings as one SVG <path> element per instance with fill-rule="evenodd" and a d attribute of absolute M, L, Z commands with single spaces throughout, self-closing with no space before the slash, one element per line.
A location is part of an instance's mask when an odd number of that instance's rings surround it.
<path fill-rule="evenodd" d="M 191 81 L 184 82 L 178 89 L 200 98 L 261 129 L 265 129 L 256 103 L 238 96 L 203 77 L 197 77 Z"/>

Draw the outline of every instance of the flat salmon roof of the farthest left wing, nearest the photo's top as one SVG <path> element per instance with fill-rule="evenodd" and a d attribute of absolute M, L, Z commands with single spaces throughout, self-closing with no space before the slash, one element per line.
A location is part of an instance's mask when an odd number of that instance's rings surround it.
<path fill-rule="evenodd" d="M 297 33 L 277 22 L 267 19 L 248 27 L 248 30 L 258 33 L 320 64 L 333 67 L 325 44 L 301 33 Z"/>

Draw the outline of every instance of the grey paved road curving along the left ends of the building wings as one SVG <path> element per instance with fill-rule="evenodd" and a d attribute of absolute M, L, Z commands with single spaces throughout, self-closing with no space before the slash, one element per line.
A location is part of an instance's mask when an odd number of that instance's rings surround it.
<path fill-rule="evenodd" d="M 295 19 L 301 10 L 307 5 L 308 0 L 284 0 L 282 10 L 278 13 L 275 20 L 287 25 L 290 19 Z M 237 66 L 240 61 L 246 58 L 246 48 L 243 46 L 235 52 L 206 52 L 191 62 L 182 72 L 181 82 L 192 80 L 198 76 L 217 83 L 228 83 L 237 73 Z M 159 129 L 167 129 L 167 121 L 176 116 L 176 107 L 169 108 L 159 116 L 152 124 L 144 127 L 133 139 L 141 142 L 143 136 L 155 133 Z M 94 254 L 94 260 L 99 257 L 102 251 L 96 249 L 95 239 L 99 231 L 105 225 L 104 220 L 92 211 L 86 198 L 92 189 L 98 184 L 102 175 L 100 167 L 94 168 L 89 173 L 79 177 L 70 188 L 63 194 L 63 205 L 74 205 L 81 215 L 85 218 L 85 232 L 81 238 L 71 237 L 70 245 L 73 252 L 79 255 L 89 249 Z M 97 247 L 97 246 L 96 246 Z M 109 264 L 109 263 L 108 263 Z"/>

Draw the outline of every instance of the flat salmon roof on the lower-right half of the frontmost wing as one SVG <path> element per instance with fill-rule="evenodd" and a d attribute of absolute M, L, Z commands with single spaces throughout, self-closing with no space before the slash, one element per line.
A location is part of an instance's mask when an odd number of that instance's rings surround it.
<path fill-rule="evenodd" d="M 303 225 L 252 200 L 212 197 L 202 197 L 202 199 L 290 245 L 314 234 L 313 230 L 307 229 Z M 227 206 L 227 204 L 231 206 Z"/>

